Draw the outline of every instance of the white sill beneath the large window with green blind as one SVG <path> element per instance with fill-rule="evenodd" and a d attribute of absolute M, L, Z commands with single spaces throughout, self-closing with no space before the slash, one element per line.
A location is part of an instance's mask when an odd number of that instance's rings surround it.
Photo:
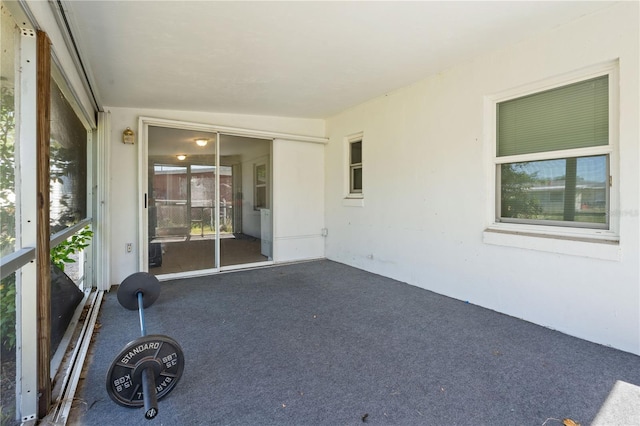
<path fill-rule="evenodd" d="M 594 259 L 621 259 L 620 238 L 605 230 L 493 224 L 484 230 L 482 241 L 485 244 Z"/>

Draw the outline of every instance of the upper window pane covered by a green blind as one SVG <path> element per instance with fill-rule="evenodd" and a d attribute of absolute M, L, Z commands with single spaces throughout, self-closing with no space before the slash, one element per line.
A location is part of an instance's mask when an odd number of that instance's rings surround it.
<path fill-rule="evenodd" d="M 605 75 L 499 103 L 498 156 L 607 145 L 608 99 Z"/>

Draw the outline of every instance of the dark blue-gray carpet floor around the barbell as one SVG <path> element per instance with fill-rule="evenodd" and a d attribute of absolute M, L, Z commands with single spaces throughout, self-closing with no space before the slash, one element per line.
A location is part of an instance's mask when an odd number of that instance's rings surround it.
<path fill-rule="evenodd" d="M 147 332 L 184 374 L 157 425 L 589 424 L 640 357 L 331 261 L 162 283 Z M 75 424 L 149 425 L 105 376 L 140 336 L 106 296 Z"/>

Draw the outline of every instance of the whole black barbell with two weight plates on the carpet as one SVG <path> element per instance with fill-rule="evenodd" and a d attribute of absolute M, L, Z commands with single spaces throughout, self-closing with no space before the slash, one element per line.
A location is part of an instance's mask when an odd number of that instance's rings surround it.
<path fill-rule="evenodd" d="M 124 407 L 144 406 L 151 420 L 158 414 L 158 400 L 176 386 L 184 370 L 180 345 L 168 336 L 147 335 L 144 308 L 160 295 L 160 282 L 146 272 L 128 276 L 118 288 L 118 302 L 138 310 L 142 337 L 129 342 L 115 357 L 107 372 L 107 393 Z"/>

